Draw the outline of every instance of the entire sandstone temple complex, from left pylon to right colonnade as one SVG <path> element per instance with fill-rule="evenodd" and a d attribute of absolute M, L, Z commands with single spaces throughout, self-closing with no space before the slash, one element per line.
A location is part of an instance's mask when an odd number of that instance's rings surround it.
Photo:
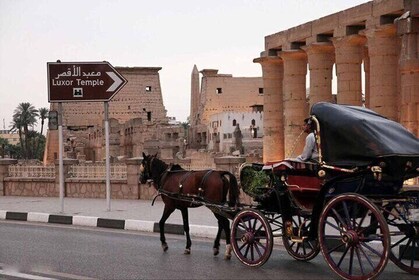
<path fill-rule="evenodd" d="M 188 133 L 167 117 L 161 68 L 116 67 L 128 84 L 109 102 L 111 156 L 173 158 L 185 144 L 229 153 L 239 125 L 245 152 L 263 147 L 264 162 L 280 160 L 302 150 L 302 120 L 319 101 L 366 106 L 419 135 L 419 0 L 374 0 L 266 35 L 253 62 L 262 77 L 193 68 Z M 65 156 L 104 159 L 103 110 L 63 103 Z M 48 131 L 44 162 L 57 155 L 58 133 Z"/>

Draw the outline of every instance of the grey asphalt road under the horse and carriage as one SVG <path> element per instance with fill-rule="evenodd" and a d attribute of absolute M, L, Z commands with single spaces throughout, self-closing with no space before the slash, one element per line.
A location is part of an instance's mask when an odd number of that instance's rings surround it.
<path fill-rule="evenodd" d="M 1 279 L 338 279 L 321 254 L 310 262 L 288 256 L 276 246 L 260 268 L 212 255 L 212 240 L 193 239 L 184 255 L 183 236 L 168 235 L 169 250 L 158 234 L 65 225 L 0 222 Z M 224 249 L 224 244 L 223 244 Z M 417 279 L 391 262 L 380 279 Z"/>

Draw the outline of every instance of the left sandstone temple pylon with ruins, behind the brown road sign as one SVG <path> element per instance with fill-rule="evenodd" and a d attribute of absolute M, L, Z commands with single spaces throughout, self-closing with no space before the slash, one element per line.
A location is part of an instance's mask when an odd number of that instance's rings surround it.
<path fill-rule="evenodd" d="M 115 67 L 128 81 L 109 102 L 110 156 L 131 158 L 160 152 L 172 158 L 183 145 L 184 129 L 172 125 L 163 105 L 160 67 Z M 51 110 L 58 104 L 51 103 Z M 63 110 L 64 157 L 105 158 L 103 102 L 66 102 Z M 45 163 L 58 158 L 58 131 L 48 130 Z"/>

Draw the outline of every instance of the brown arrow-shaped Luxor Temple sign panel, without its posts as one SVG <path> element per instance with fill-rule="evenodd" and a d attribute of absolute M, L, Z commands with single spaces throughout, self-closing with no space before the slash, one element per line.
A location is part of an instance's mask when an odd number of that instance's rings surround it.
<path fill-rule="evenodd" d="M 48 101 L 109 101 L 127 83 L 109 62 L 48 62 Z"/>

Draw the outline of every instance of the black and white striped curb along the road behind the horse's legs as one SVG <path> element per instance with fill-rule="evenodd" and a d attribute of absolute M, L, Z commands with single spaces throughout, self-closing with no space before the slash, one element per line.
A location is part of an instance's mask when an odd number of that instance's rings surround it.
<path fill-rule="evenodd" d="M 113 228 L 143 232 L 160 232 L 159 223 L 132 219 L 105 219 L 90 216 L 67 216 L 38 212 L 12 212 L 0 210 L 0 220 Z M 191 236 L 213 238 L 217 234 L 217 228 L 212 226 L 189 225 L 189 228 Z M 166 224 L 165 233 L 183 235 L 183 225 Z"/>

